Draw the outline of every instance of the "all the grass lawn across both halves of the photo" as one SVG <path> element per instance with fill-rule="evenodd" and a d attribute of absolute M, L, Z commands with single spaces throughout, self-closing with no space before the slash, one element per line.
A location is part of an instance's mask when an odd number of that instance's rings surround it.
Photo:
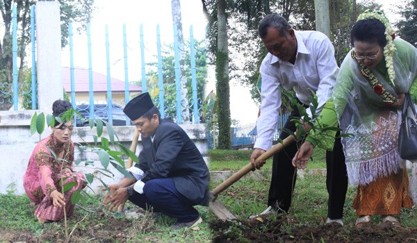
<path fill-rule="evenodd" d="M 244 153 L 243 156 L 250 156 L 250 152 Z M 324 158 L 324 151 L 315 153 L 309 168 L 325 168 Z M 211 170 L 236 170 L 249 162 L 248 157 L 234 159 L 212 160 Z M 268 196 L 271 166 L 272 161 L 268 160 L 261 169 L 260 178 L 247 176 L 240 179 L 221 192 L 217 200 L 240 221 L 247 221 L 250 215 L 262 212 Z M 328 197 L 325 179 L 325 176 L 309 174 L 304 178 L 297 178 L 291 212 L 280 225 L 280 231 L 291 235 L 299 226 L 323 226 L 327 217 Z M 211 181 L 211 188 L 218 184 L 219 181 Z M 352 232 L 354 228 L 356 216 L 351 207 L 354 193 L 354 188 L 349 187 L 344 208 L 343 232 Z M 126 215 L 117 216 L 103 208 L 101 197 L 91 196 L 85 205 L 76 206 L 75 215 L 68 220 L 67 231 L 72 232 L 69 242 L 211 242 L 213 238 L 211 222 L 216 221 L 217 217 L 207 207 L 197 207 L 204 219 L 202 224 L 194 229 L 180 231 L 171 230 L 174 220 L 170 217 L 160 215 L 153 218 L 131 203 L 127 203 L 125 208 L 144 215 L 137 219 L 128 219 Z M 0 194 L 0 242 L 65 242 L 64 222 L 40 225 L 33 215 L 34 209 L 26 195 L 16 196 L 13 191 Z M 379 220 L 379 217 L 373 219 Z M 417 226 L 417 208 L 402 210 L 399 219 L 403 226 Z M 269 226 L 265 224 L 264 227 Z M 414 239 L 417 239 L 417 235 Z"/>

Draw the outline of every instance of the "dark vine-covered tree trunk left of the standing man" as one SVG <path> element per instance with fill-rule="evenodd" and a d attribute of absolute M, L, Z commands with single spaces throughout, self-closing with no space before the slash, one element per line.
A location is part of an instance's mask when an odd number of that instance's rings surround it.
<path fill-rule="evenodd" d="M 218 0 L 218 47 L 216 51 L 216 90 L 218 95 L 219 149 L 231 149 L 229 44 L 227 42 L 226 0 Z"/>

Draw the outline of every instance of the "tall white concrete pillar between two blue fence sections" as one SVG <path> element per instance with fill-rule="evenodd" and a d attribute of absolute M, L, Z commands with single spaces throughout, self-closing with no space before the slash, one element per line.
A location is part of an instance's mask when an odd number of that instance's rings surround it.
<path fill-rule="evenodd" d="M 63 99 L 59 7 L 58 1 L 36 2 L 38 104 L 48 114 L 52 103 Z"/>

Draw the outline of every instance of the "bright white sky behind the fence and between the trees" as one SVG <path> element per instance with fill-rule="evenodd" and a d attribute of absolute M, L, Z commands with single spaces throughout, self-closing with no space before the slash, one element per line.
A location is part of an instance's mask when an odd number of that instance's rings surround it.
<path fill-rule="evenodd" d="M 384 5 L 384 11 L 391 22 L 395 15 L 391 9 L 393 1 L 379 0 Z M 108 24 L 110 39 L 111 76 L 124 81 L 124 59 L 122 26 L 126 24 L 129 80 L 139 81 L 140 66 L 140 24 L 144 28 L 145 62 L 152 59 L 156 53 L 156 25 L 160 25 L 161 42 L 173 41 L 172 15 L 170 0 L 96 0 L 96 10 L 91 21 L 92 38 L 92 69 L 106 74 L 105 25 Z M 206 19 L 202 12 L 202 2 L 198 0 L 181 0 L 184 39 L 190 37 L 190 25 L 193 25 L 194 36 L 197 40 L 204 40 Z M 75 27 L 75 26 L 74 26 Z M 74 66 L 88 68 L 87 37 L 85 34 L 74 33 Z M 62 62 L 64 67 L 70 66 L 69 47 L 63 49 Z M 233 60 L 232 60 L 233 61 Z M 215 74 L 213 67 L 208 72 L 206 92 L 215 90 Z M 205 97 L 204 97 L 205 98 Z M 239 124 L 256 122 L 259 107 L 250 97 L 247 87 L 238 83 L 230 84 L 231 119 Z"/>

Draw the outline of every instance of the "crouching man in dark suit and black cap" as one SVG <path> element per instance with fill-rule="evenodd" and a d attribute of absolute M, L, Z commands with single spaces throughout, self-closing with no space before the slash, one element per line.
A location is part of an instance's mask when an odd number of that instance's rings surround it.
<path fill-rule="evenodd" d="M 142 137 L 139 164 L 127 169 L 134 177 L 109 185 L 103 203 L 110 210 L 129 199 L 141 208 L 177 219 L 172 228 L 194 227 L 202 222 L 195 205 L 208 204 L 208 168 L 185 131 L 171 119 L 160 119 L 149 93 L 140 94 L 124 108 Z"/>

